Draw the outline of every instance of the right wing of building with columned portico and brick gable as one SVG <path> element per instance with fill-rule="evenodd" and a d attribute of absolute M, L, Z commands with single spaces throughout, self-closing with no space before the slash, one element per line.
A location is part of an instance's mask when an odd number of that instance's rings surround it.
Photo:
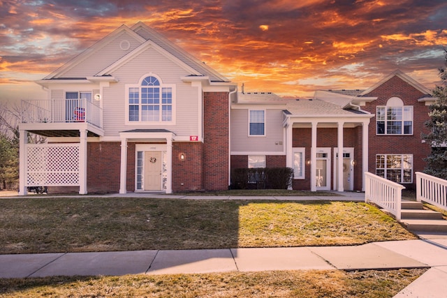
<path fill-rule="evenodd" d="M 316 91 L 312 99 L 238 94 L 231 168 L 293 167 L 293 189 L 362 191 L 364 172 L 413 188 L 430 154 L 420 133 L 433 101 L 400 70 L 367 90 Z"/>

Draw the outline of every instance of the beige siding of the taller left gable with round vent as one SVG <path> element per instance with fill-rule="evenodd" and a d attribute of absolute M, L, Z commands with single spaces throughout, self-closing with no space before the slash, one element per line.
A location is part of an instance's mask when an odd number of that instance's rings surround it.
<path fill-rule="evenodd" d="M 120 48 L 120 44 L 123 40 L 129 41 L 129 50 L 122 50 Z M 122 32 L 115 39 L 110 40 L 110 43 L 106 44 L 101 49 L 96 50 L 94 54 L 91 54 L 91 56 L 87 57 L 87 59 L 80 64 L 66 70 L 66 72 L 61 73 L 58 77 L 86 77 L 89 75 L 96 75 L 96 73 L 110 66 L 110 64 L 113 64 L 115 61 L 131 52 L 140 44 L 140 41 L 135 40 L 129 33 Z"/>

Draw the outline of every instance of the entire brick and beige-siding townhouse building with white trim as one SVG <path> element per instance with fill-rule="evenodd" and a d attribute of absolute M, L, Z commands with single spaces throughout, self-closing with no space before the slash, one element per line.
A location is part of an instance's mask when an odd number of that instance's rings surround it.
<path fill-rule="evenodd" d="M 433 98 L 400 71 L 309 100 L 237 93 L 141 22 L 37 83 L 48 96 L 22 105 L 20 194 L 224 190 L 237 167 L 293 167 L 293 189 L 362 190 L 366 171 L 412 184 L 430 153 L 419 135 Z"/>

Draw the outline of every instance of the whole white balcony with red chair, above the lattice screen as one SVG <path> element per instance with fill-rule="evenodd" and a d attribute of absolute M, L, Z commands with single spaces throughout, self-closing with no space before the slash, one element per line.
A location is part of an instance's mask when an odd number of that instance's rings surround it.
<path fill-rule="evenodd" d="M 103 135 L 102 109 L 87 99 L 22 100 L 20 129 L 45 136 Z"/>

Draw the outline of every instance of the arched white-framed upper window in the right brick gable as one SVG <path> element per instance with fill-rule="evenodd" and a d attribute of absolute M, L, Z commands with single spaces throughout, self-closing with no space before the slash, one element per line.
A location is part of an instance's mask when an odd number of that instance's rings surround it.
<path fill-rule="evenodd" d="M 392 97 L 385 106 L 376 107 L 377 135 L 413 135 L 413 106 Z"/>

